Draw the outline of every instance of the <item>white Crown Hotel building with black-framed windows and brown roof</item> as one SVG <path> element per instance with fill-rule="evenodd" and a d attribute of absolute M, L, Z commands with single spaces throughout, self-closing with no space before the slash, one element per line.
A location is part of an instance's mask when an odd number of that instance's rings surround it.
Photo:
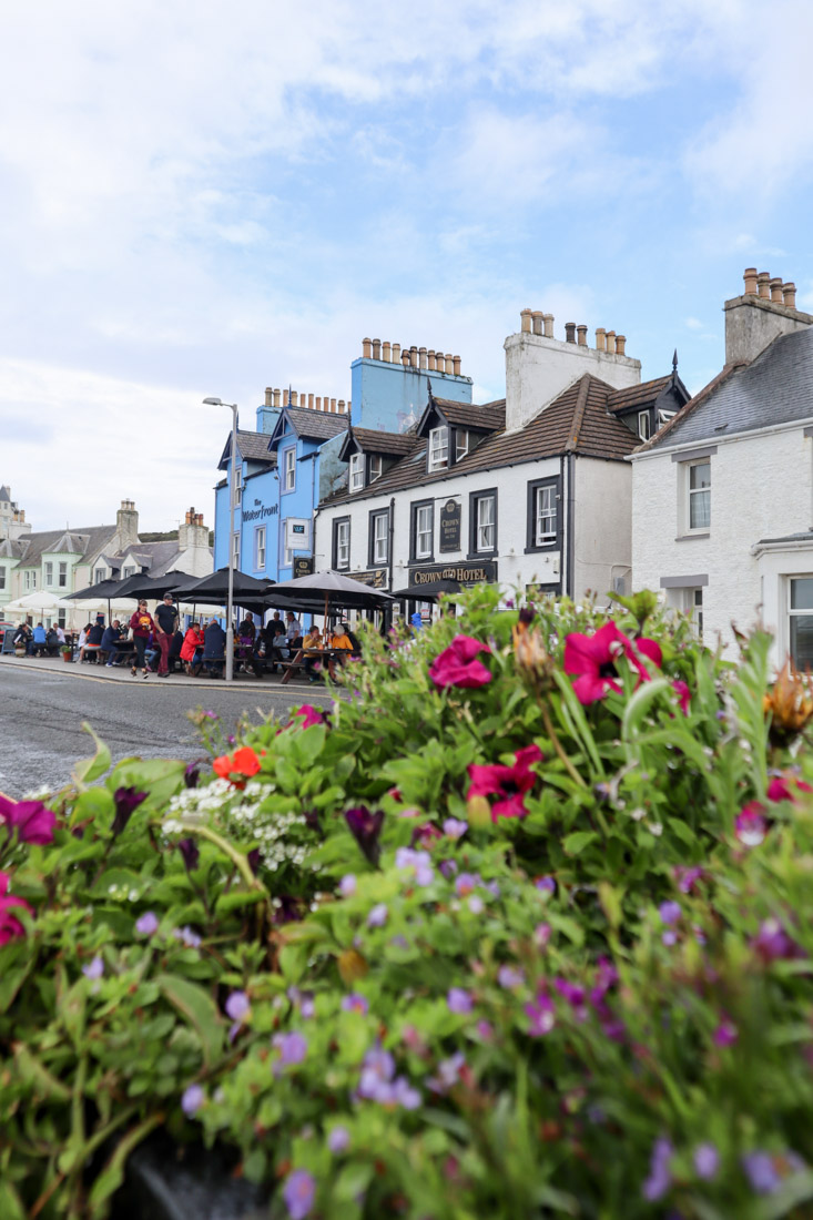
<path fill-rule="evenodd" d="M 524 310 L 505 340 L 507 396 L 430 396 L 405 433 L 352 428 L 348 483 L 323 500 L 316 567 L 385 589 L 454 577 L 603 598 L 627 587 L 626 456 L 687 399 L 671 376 L 641 384 L 625 339 Z"/>

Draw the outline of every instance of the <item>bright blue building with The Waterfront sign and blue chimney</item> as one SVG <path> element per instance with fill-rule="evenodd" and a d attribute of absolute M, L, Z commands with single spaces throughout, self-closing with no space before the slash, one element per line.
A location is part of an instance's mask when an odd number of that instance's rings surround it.
<path fill-rule="evenodd" d="M 314 510 L 347 483 L 339 454 L 353 427 L 404 433 L 421 417 L 430 396 L 471 403 L 471 378 L 460 357 L 433 349 L 363 340 L 350 365 L 352 398 L 314 398 L 266 389 L 256 409 L 256 431 L 237 432 L 238 528 L 229 539 L 231 433 L 215 488 L 215 567 L 234 564 L 249 576 L 287 581 L 314 569 Z M 323 560 L 315 565 L 326 566 Z"/>

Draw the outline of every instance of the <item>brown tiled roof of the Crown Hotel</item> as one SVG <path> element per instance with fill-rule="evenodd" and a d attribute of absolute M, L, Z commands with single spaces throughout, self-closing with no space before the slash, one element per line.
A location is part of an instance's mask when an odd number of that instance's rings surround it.
<path fill-rule="evenodd" d="M 607 411 L 613 388 L 590 373 L 570 386 L 549 406 L 518 432 L 497 432 L 486 437 L 454 466 L 426 471 L 426 445 L 420 439 L 413 453 L 403 458 L 381 478 L 353 495 L 342 488 L 322 500 L 322 506 L 347 504 L 370 495 L 385 495 L 409 487 L 424 487 L 458 475 L 475 475 L 499 466 L 518 466 L 541 458 L 557 458 L 575 453 L 585 458 L 623 461 L 635 449 L 637 438 Z M 492 404 L 494 405 L 494 404 Z M 499 405 L 504 406 L 500 401 Z"/>

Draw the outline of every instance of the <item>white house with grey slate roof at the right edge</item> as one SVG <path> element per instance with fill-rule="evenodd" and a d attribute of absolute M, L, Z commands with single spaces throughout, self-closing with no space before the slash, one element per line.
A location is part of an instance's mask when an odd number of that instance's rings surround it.
<path fill-rule="evenodd" d="M 813 666 L 813 316 L 753 268 L 724 310 L 724 368 L 631 459 L 634 586 Z"/>

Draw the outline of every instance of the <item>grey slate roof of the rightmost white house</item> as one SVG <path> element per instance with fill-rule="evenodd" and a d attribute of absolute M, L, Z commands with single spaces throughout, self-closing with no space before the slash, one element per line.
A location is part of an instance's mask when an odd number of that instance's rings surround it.
<path fill-rule="evenodd" d="M 807 418 L 813 418 L 813 327 L 780 336 L 748 365 L 726 365 L 636 453 Z"/>

